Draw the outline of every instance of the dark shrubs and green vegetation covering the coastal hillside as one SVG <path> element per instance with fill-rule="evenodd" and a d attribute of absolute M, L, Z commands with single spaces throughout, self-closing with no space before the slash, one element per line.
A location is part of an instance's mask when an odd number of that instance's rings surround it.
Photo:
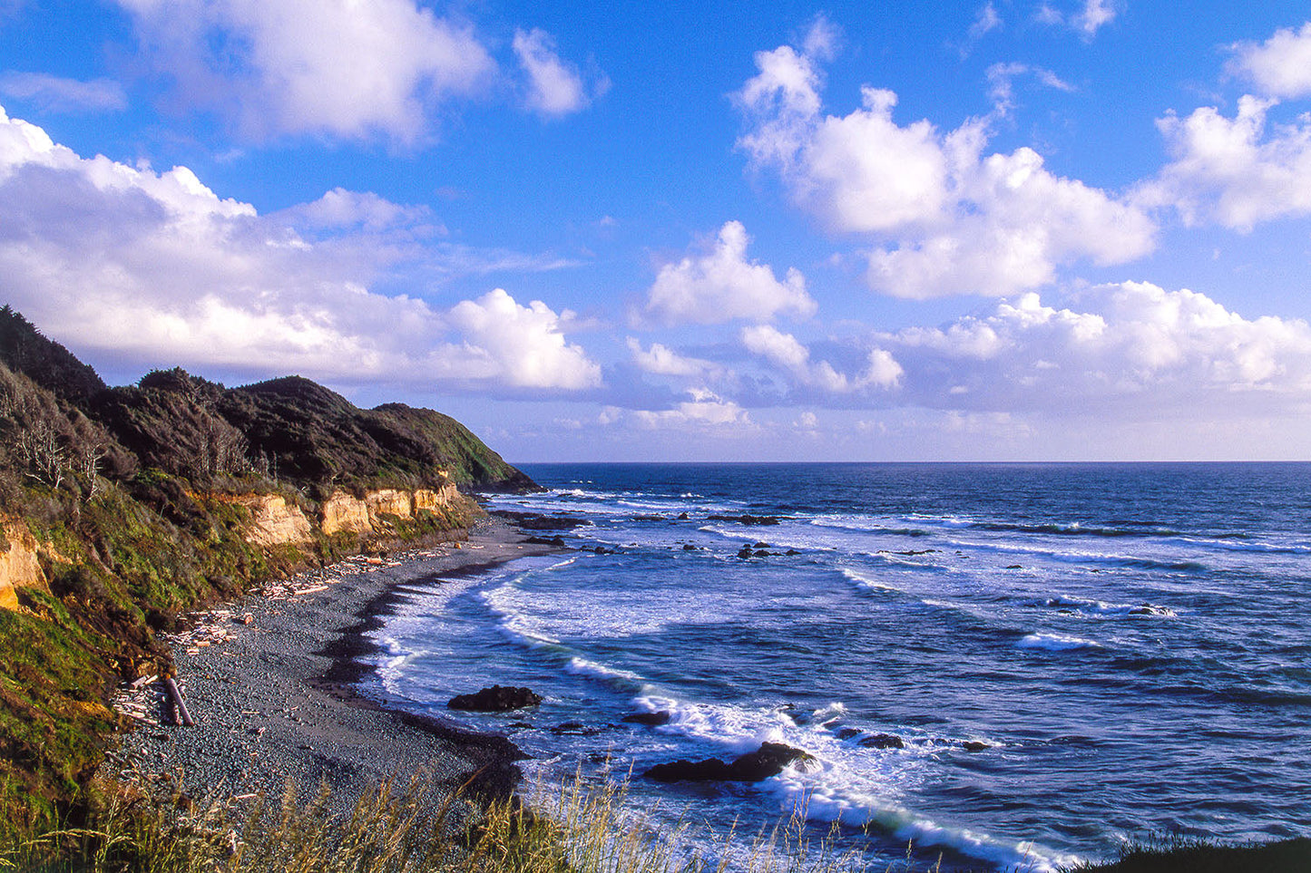
<path fill-rule="evenodd" d="M 367 541 L 315 527 L 309 541 L 261 548 L 235 495 L 281 495 L 316 518 L 337 489 L 447 477 L 532 486 L 446 416 L 357 409 L 300 378 L 229 389 L 174 368 L 110 388 L 0 308 L 0 530 L 33 535 L 49 583 L 20 581 L 20 608 L 0 610 L 0 818 L 88 814 L 81 789 L 122 728 L 108 693 L 172 671 L 156 632 L 178 612 L 363 548 L 444 539 L 477 513 L 463 501 L 384 516 Z M 0 535 L 0 552 L 18 545 Z"/>

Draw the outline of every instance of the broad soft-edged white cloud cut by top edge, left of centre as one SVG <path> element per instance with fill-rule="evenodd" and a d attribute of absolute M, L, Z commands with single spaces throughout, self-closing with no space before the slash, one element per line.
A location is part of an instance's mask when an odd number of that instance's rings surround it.
<path fill-rule="evenodd" d="M 118 0 L 174 100 L 245 136 L 413 142 L 496 68 L 468 25 L 416 0 Z"/>

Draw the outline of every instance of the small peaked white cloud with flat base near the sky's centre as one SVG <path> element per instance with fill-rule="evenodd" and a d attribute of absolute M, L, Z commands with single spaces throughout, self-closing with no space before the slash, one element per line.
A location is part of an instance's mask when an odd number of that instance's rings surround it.
<path fill-rule="evenodd" d="M 646 315 L 663 324 L 768 321 L 780 312 L 810 316 L 815 301 L 805 277 L 789 269 L 783 282 L 764 263 L 747 261 L 751 237 L 741 222 L 720 228 L 712 250 L 666 263 L 646 299 Z"/>

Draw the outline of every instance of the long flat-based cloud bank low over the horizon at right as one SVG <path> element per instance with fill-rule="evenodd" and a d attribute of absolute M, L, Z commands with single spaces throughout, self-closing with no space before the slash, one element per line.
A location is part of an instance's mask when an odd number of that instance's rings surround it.
<path fill-rule="evenodd" d="M 1206 295 L 1146 282 L 1101 286 L 1086 307 L 1037 294 L 939 328 L 878 333 L 924 406 L 1152 416 L 1180 405 L 1306 404 L 1311 325 L 1244 319 Z"/>

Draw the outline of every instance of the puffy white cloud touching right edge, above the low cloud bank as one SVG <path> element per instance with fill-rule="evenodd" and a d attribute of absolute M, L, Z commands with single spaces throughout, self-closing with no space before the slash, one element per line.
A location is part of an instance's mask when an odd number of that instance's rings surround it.
<path fill-rule="evenodd" d="M 1239 231 L 1311 214 L 1311 118 L 1268 132 L 1273 105 L 1247 96 L 1234 118 L 1203 106 L 1188 118 L 1159 119 L 1172 161 L 1139 186 L 1138 202 L 1176 208 L 1186 224 L 1217 222 Z"/>

